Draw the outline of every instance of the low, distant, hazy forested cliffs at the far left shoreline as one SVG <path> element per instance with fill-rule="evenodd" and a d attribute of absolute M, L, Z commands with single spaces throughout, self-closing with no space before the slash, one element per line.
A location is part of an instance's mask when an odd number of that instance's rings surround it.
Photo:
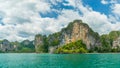
<path fill-rule="evenodd" d="M 35 46 L 33 41 L 23 40 L 21 42 L 18 41 L 8 41 L 7 39 L 0 40 L 0 52 L 2 53 L 10 53 L 10 52 L 18 52 L 18 53 L 28 53 L 35 52 Z"/>

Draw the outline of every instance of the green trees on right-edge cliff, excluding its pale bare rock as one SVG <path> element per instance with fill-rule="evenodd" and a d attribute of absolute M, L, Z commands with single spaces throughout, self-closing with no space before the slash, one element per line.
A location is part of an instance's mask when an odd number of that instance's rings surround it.
<path fill-rule="evenodd" d="M 101 35 L 100 52 L 120 52 L 120 47 L 112 48 L 113 42 L 120 37 L 120 31 L 111 31 L 109 34 Z"/>

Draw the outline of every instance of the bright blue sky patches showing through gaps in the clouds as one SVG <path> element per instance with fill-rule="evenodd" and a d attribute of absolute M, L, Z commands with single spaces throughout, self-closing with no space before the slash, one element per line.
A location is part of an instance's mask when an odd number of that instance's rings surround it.
<path fill-rule="evenodd" d="M 89 6 L 91 7 L 94 11 L 109 15 L 111 13 L 111 9 L 110 6 L 112 4 L 102 4 L 101 0 L 82 0 L 83 5 L 84 6 Z M 56 10 L 63 10 L 63 9 L 68 9 L 68 10 L 76 10 L 76 8 L 74 8 L 73 6 L 65 6 L 64 3 L 68 4 L 67 1 L 63 0 L 63 2 L 58 2 L 57 5 L 52 5 L 53 9 Z M 59 13 L 57 12 L 48 12 L 45 14 L 40 13 L 40 15 L 42 17 L 51 17 L 51 18 L 57 18 L 57 16 L 59 15 Z"/>

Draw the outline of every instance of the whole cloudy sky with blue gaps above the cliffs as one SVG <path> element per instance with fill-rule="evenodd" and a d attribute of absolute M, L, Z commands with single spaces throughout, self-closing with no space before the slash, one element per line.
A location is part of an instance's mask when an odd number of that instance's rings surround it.
<path fill-rule="evenodd" d="M 0 39 L 33 40 L 75 19 L 100 35 L 120 30 L 120 0 L 0 0 Z"/>

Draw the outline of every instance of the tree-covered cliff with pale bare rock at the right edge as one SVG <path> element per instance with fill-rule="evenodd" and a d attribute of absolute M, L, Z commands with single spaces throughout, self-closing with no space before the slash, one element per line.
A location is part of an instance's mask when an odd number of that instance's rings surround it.
<path fill-rule="evenodd" d="M 120 52 L 120 31 L 111 31 L 101 36 L 102 49 L 106 52 Z"/>

